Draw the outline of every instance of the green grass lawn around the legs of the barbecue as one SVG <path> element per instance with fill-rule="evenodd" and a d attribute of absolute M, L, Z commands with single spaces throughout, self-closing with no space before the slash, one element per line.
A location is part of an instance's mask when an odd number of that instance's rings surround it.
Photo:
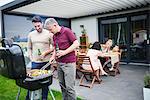
<path fill-rule="evenodd" d="M 61 93 L 59 91 L 52 90 L 56 100 L 62 100 Z M 18 86 L 15 84 L 15 80 L 5 78 L 0 75 L 0 100 L 15 100 L 18 92 Z M 21 89 L 19 100 L 25 100 L 27 90 Z M 49 93 L 48 100 L 52 100 Z M 77 100 L 81 100 L 78 98 Z"/>

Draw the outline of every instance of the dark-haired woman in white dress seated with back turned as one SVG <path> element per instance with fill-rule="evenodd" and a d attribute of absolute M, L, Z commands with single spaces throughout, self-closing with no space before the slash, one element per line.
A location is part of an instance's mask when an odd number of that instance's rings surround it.
<path fill-rule="evenodd" d="M 101 46 L 100 46 L 100 43 L 99 42 L 95 42 L 92 47 L 87 51 L 87 54 L 86 56 L 89 56 L 90 57 L 90 60 L 91 60 L 91 64 L 93 66 L 93 69 L 94 70 L 97 70 L 96 71 L 96 74 L 97 76 L 100 75 L 100 72 L 98 69 L 100 69 L 101 71 L 101 75 L 108 75 L 104 70 L 103 70 L 103 67 L 102 67 L 102 64 L 101 64 L 101 61 L 98 59 L 99 56 L 103 56 L 103 53 L 102 51 L 100 51 L 101 49 Z M 86 70 L 92 70 L 91 67 L 87 67 L 87 65 L 82 65 L 83 69 L 86 69 Z"/>

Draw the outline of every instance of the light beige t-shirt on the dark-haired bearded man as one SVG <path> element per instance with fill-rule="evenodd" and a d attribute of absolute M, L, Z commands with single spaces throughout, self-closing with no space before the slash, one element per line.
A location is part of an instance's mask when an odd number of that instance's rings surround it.
<path fill-rule="evenodd" d="M 39 59 L 38 49 L 41 53 L 50 50 L 53 44 L 53 34 L 43 29 L 41 33 L 36 30 L 28 35 L 28 49 L 32 51 L 32 61 L 46 62 L 49 61 L 50 55 L 46 56 L 43 60 Z"/>

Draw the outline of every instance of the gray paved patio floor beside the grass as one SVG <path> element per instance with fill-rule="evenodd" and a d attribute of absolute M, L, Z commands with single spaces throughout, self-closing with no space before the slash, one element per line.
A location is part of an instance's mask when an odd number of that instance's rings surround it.
<path fill-rule="evenodd" d="M 93 88 L 79 86 L 76 79 L 76 93 L 84 100 L 143 100 L 143 77 L 148 66 L 120 65 L 121 74 L 102 76 L 101 84 Z M 58 80 L 54 79 L 52 89 L 60 90 Z"/>

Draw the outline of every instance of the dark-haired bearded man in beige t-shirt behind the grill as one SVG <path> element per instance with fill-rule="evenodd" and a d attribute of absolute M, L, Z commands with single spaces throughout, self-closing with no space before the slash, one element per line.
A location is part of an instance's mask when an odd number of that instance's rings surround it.
<path fill-rule="evenodd" d="M 43 29 L 39 16 L 32 18 L 35 30 L 28 35 L 28 56 L 32 63 L 32 69 L 40 69 L 48 63 L 50 52 L 53 51 L 53 34 Z M 47 100 L 48 87 L 42 89 L 42 100 Z M 29 99 L 27 95 L 26 99 Z"/>

